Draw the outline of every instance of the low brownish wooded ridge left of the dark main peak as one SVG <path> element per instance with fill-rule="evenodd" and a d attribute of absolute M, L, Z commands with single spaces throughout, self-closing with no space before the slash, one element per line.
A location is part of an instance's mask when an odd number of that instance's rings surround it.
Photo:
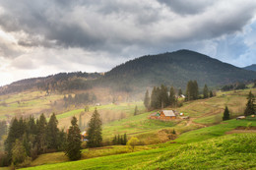
<path fill-rule="evenodd" d="M 4 85 L 0 87 L 0 94 L 20 92 L 33 88 L 47 90 L 48 92 L 52 90 L 88 89 L 92 87 L 89 81 L 99 77 L 101 77 L 99 73 L 59 73 L 48 77 L 26 79 L 11 85 Z"/>

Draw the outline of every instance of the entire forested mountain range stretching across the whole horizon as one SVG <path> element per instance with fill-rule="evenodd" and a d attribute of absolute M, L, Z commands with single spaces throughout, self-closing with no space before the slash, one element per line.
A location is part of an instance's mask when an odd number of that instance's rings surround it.
<path fill-rule="evenodd" d="M 205 84 L 216 86 L 256 80 L 256 74 L 198 52 L 178 50 L 130 60 L 103 76 L 76 72 L 23 80 L 1 87 L 0 94 L 31 88 L 64 91 L 95 86 L 110 87 L 113 91 L 141 92 L 161 84 L 185 89 L 190 80 L 196 80 L 201 87 Z"/>

